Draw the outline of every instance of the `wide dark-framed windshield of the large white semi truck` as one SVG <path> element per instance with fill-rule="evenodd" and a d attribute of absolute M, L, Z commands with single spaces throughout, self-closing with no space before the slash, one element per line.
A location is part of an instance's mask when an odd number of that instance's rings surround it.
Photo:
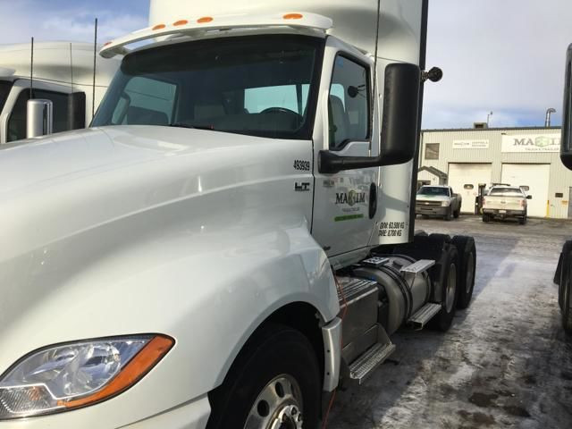
<path fill-rule="evenodd" d="M 324 40 L 265 35 L 127 55 L 92 126 L 171 125 L 311 139 Z"/>

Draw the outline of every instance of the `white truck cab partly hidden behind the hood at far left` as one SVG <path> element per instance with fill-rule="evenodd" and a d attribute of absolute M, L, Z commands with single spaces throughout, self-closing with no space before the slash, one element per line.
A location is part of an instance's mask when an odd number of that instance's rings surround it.
<path fill-rule="evenodd" d="M 31 98 L 52 102 L 54 132 L 88 126 L 120 63 L 97 55 L 94 99 L 93 44 L 35 43 L 33 66 L 31 44 L 0 45 L 0 144 L 26 139 L 30 88 Z"/>

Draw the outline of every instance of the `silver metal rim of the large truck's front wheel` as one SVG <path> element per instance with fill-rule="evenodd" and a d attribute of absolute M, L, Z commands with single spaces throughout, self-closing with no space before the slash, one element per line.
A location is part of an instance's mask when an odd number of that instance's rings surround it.
<path fill-rule="evenodd" d="M 302 405 L 298 382 L 288 374 L 278 375 L 258 394 L 244 429 L 301 429 Z"/>

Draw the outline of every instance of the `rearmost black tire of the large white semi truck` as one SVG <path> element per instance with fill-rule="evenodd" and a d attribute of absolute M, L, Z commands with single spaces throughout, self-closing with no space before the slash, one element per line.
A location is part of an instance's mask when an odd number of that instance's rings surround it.
<path fill-rule="evenodd" d="M 470 305 L 475 289 L 475 239 L 465 235 L 456 235 L 451 242 L 458 252 L 457 308 L 465 309 Z"/>

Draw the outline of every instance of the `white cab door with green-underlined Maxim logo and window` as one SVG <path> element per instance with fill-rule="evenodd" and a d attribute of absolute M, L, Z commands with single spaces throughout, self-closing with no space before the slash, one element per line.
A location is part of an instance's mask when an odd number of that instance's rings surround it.
<path fill-rule="evenodd" d="M 319 172 L 320 150 L 337 156 L 377 156 L 377 114 L 372 112 L 373 62 L 328 38 L 316 114 L 312 235 L 328 257 L 364 250 L 374 231 L 379 167 Z"/>

